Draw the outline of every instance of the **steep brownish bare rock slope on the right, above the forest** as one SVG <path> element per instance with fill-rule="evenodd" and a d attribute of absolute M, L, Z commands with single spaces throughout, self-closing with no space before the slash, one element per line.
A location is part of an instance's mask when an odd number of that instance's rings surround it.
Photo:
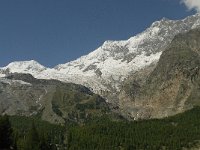
<path fill-rule="evenodd" d="M 162 118 L 200 105 L 199 73 L 200 29 L 194 29 L 175 36 L 145 79 L 134 74 L 124 83 L 120 108 L 138 119 Z"/>

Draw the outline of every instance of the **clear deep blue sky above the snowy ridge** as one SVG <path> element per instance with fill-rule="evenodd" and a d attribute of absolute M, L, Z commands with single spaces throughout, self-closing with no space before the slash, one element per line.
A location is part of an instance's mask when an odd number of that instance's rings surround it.
<path fill-rule="evenodd" d="M 180 0 L 0 0 L 0 66 L 34 59 L 53 67 L 162 17 L 194 13 Z"/>

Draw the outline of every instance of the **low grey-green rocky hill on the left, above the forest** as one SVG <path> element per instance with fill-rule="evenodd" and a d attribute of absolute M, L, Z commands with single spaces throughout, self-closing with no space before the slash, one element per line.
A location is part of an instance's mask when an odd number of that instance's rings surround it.
<path fill-rule="evenodd" d="M 108 112 L 105 100 L 81 85 L 39 80 L 30 74 L 0 78 L 0 114 L 64 123 L 82 122 Z"/>

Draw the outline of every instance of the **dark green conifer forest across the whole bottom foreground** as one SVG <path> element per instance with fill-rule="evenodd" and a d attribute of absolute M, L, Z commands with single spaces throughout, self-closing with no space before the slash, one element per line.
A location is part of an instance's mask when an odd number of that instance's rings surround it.
<path fill-rule="evenodd" d="M 52 125 L 26 117 L 0 117 L 2 150 L 181 150 L 200 147 L 200 107 L 164 118 Z"/>

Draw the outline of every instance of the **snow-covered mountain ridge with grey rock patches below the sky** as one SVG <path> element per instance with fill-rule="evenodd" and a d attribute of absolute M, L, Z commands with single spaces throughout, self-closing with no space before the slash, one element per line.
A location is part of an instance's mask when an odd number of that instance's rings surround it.
<path fill-rule="evenodd" d="M 0 68 L 0 76 L 30 73 L 36 78 L 82 84 L 100 94 L 119 90 L 120 82 L 130 73 L 156 63 L 175 35 L 199 26 L 200 14 L 183 20 L 163 18 L 128 40 L 106 41 L 88 55 L 55 68 L 45 68 L 35 61 L 13 62 Z"/>

